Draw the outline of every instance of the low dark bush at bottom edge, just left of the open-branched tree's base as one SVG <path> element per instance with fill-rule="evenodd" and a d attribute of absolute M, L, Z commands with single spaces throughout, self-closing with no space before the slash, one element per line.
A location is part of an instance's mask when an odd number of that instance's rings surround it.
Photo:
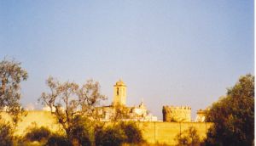
<path fill-rule="evenodd" d="M 67 137 L 53 134 L 49 137 L 47 143 L 45 144 L 47 146 L 72 146 L 72 143 L 68 140 Z"/>

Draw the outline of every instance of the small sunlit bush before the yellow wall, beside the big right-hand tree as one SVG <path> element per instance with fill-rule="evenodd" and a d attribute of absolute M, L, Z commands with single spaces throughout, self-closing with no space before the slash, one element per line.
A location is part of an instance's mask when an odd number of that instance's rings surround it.
<path fill-rule="evenodd" d="M 183 131 L 176 136 L 177 146 L 198 146 L 200 145 L 200 138 L 194 126 Z"/>

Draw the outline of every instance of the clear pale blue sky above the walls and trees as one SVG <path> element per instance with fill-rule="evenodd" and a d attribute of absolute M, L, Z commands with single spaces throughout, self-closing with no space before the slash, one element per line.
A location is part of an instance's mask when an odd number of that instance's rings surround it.
<path fill-rule="evenodd" d="M 0 1 L 0 60 L 21 62 L 29 78 L 21 103 L 38 107 L 45 80 L 94 79 L 127 104 L 205 109 L 239 76 L 254 74 L 253 0 Z"/>

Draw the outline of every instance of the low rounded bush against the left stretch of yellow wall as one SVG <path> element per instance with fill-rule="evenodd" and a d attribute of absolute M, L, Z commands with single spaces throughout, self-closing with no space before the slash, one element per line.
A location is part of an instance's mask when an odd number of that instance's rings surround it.
<path fill-rule="evenodd" d="M 33 126 L 30 127 L 26 132 L 26 135 L 24 138 L 28 141 L 42 141 L 42 140 L 47 140 L 51 134 L 49 128 L 41 126 Z"/>

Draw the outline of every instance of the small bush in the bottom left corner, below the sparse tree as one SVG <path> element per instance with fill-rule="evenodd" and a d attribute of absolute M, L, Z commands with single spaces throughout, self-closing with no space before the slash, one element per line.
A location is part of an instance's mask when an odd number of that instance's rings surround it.
<path fill-rule="evenodd" d="M 13 129 L 9 123 L 4 121 L 0 122 L 0 145 L 11 146 L 13 145 Z"/>

